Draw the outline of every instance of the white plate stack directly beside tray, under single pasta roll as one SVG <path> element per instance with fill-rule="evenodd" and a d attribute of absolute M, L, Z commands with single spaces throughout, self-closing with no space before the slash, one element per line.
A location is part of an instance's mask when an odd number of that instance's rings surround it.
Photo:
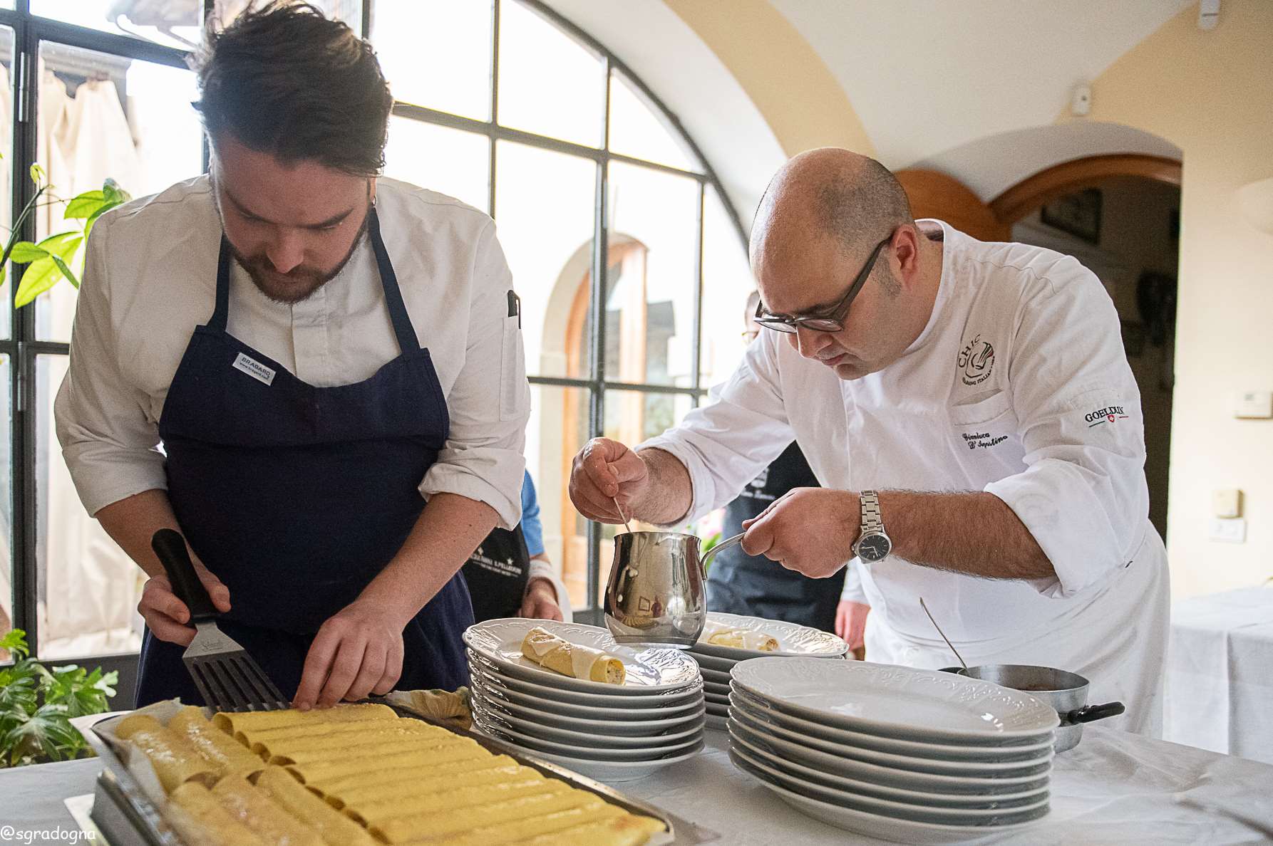
<path fill-rule="evenodd" d="M 624 684 L 572 678 L 522 655 L 540 626 L 624 662 Z M 598 781 L 631 781 L 703 748 L 703 678 L 676 649 L 619 646 L 605 628 L 503 618 L 465 631 L 479 729 Z"/>

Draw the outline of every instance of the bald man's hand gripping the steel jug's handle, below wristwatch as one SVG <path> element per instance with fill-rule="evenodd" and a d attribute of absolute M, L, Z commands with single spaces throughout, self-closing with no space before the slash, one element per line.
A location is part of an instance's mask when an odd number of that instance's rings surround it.
<path fill-rule="evenodd" d="M 825 579 L 853 557 L 859 509 L 858 495 L 849 491 L 793 487 L 759 517 L 743 520 L 742 551 Z"/>

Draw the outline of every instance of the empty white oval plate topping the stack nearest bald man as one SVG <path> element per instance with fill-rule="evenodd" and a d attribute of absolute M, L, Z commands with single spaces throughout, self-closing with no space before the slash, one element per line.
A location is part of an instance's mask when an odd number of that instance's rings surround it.
<path fill-rule="evenodd" d="M 853 732 L 955 743 L 1041 742 L 1050 705 L 976 678 L 868 662 L 754 658 L 733 682 L 779 711 Z"/>

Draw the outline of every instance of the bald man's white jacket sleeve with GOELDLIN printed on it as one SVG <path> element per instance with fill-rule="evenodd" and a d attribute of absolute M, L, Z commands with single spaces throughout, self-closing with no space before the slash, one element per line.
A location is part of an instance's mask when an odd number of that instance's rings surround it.
<path fill-rule="evenodd" d="M 1027 298 L 1011 357 L 1012 407 L 1026 469 L 985 486 L 1051 561 L 1044 595 L 1068 597 L 1134 557 L 1148 523 L 1141 394 L 1120 323 L 1078 262 Z"/>

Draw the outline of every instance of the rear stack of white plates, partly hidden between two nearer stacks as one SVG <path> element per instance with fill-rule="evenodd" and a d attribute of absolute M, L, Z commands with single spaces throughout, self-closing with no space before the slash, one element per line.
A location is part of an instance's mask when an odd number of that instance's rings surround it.
<path fill-rule="evenodd" d="M 733 628 L 746 628 L 747 631 L 763 631 L 778 639 L 778 650 L 761 653 L 755 649 L 735 649 L 733 646 L 717 646 L 704 640 L 690 648 L 690 656 L 698 662 L 703 670 L 703 690 L 708 702 L 708 725 L 713 729 L 724 730 L 726 718 L 729 715 L 729 670 L 738 662 L 763 655 L 770 658 L 844 658 L 849 651 L 849 645 L 829 632 L 808 626 L 782 622 L 779 620 L 765 620 L 764 617 L 745 617 L 742 614 L 726 614 L 719 611 L 708 612 L 708 620 Z"/>

